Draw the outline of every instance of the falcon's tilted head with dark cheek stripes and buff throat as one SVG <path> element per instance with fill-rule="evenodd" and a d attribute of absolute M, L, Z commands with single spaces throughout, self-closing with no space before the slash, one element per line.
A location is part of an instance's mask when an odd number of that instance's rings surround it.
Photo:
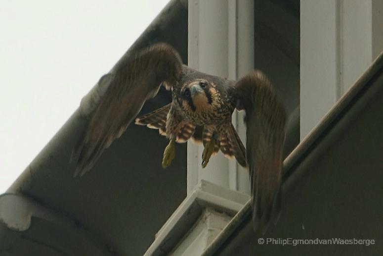
<path fill-rule="evenodd" d="M 186 113 L 209 112 L 220 107 L 216 86 L 205 79 L 186 82 L 179 93 L 180 106 Z"/>

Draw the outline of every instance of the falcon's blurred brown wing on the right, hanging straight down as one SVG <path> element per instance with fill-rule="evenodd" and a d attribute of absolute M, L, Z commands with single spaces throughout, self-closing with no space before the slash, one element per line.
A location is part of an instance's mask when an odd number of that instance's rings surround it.
<path fill-rule="evenodd" d="M 281 204 L 282 152 L 286 114 L 273 86 L 260 71 L 236 84 L 237 108 L 246 111 L 246 160 L 249 165 L 253 225 L 264 234 Z"/>

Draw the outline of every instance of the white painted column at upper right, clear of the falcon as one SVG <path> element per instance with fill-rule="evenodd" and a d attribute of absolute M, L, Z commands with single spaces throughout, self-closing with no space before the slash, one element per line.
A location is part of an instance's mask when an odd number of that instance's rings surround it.
<path fill-rule="evenodd" d="M 301 140 L 382 50 L 382 0 L 300 2 Z"/>

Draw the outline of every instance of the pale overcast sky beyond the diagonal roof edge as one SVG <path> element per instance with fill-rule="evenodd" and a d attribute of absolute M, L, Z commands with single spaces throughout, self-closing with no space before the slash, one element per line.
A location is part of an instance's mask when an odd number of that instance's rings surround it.
<path fill-rule="evenodd" d="M 1 1 L 0 193 L 168 1 Z"/>

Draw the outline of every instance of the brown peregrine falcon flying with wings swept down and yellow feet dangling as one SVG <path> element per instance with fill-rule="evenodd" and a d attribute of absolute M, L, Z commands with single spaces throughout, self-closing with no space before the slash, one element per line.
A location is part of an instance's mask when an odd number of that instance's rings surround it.
<path fill-rule="evenodd" d="M 182 64 L 167 44 L 156 44 L 118 63 L 111 83 L 75 146 L 75 176 L 83 175 L 137 116 L 160 86 L 172 102 L 135 123 L 159 129 L 169 139 L 162 166 L 174 158 L 174 143 L 203 143 L 202 166 L 219 150 L 249 168 L 253 224 L 260 234 L 281 204 L 282 150 L 286 114 L 267 77 L 253 71 L 238 81 L 205 74 Z M 246 149 L 232 123 L 234 110 L 245 110 Z"/>

